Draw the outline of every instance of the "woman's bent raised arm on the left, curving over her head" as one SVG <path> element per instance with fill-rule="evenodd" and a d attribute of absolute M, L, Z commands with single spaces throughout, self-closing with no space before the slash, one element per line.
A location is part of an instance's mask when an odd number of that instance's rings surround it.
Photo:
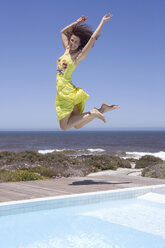
<path fill-rule="evenodd" d="M 67 37 L 67 33 L 68 32 L 71 32 L 73 30 L 73 28 L 77 25 L 77 24 L 80 24 L 80 23 L 83 23 L 87 20 L 88 17 L 85 17 L 85 16 L 82 16 L 80 17 L 77 21 L 73 22 L 72 24 L 70 24 L 69 26 L 63 28 L 61 30 L 61 39 L 62 39 L 62 44 L 66 50 L 68 44 L 69 44 L 69 40 L 68 40 L 68 37 Z"/>

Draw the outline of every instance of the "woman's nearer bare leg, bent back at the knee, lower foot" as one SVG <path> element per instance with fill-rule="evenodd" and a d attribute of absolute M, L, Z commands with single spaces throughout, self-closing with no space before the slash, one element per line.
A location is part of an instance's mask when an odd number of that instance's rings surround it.
<path fill-rule="evenodd" d="M 80 125 L 82 123 L 84 123 L 83 124 L 83 126 L 84 126 L 87 123 L 89 123 L 90 121 L 94 120 L 95 118 L 99 118 L 105 122 L 104 115 L 101 114 L 98 111 L 98 109 L 96 109 L 96 108 L 90 110 L 89 112 L 83 113 L 83 114 L 75 114 L 73 111 L 71 113 L 71 115 L 69 116 L 69 118 L 67 118 L 67 119 L 65 119 L 65 118 L 63 118 L 60 121 L 60 126 L 61 126 L 61 129 L 63 129 L 63 130 L 69 130 L 70 128 L 76 127 L 77 125 Z"/>

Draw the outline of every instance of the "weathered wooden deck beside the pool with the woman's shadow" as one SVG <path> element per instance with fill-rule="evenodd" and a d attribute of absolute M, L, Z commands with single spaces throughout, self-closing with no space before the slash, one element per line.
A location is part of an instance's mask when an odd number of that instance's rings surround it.
<path fill-rule="evenodd" d="M 128 175 L 96 175 L 0 183 L 0 202 L 165 184 L 163 179 Z"/>

